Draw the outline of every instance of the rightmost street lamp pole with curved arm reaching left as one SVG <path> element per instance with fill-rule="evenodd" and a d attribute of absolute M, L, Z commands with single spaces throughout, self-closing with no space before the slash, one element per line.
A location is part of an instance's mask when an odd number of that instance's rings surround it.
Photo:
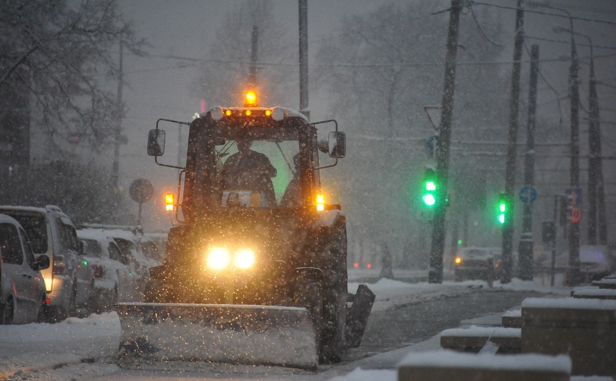
<path fill-rule="evenodd" d="M 556 33 L 572 33 L 562 27 L 554 27 Z M 594 76 L 593 40 L 582 33 L 573 34 L 588 39 L 590 44 L 590 79 L 588 81 L 588 244 L 597 243 L 597 214 L 599 214 L 599 244 L 607 242 L 605 215 L 605 194 L 603 189 L 603 170 L 601 160 L 601 128 L 599 126 L 599 101 L 597 80 Z"/>

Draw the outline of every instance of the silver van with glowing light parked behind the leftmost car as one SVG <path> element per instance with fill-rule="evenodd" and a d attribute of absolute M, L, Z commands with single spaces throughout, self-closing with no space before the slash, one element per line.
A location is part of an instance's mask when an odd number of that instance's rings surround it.
<path fill-rule="evenodd" d="M 41 271 L 49 303 L 44 316 L 57 321 L 86 308 L 94 289 L 92 268 L 81 256 L 75 226 L 55 205 L 44 208 L 1 205 L 0 213 L 16 219 L 30 238 L 34 256 L 46 255 L 51 262 Z"/>

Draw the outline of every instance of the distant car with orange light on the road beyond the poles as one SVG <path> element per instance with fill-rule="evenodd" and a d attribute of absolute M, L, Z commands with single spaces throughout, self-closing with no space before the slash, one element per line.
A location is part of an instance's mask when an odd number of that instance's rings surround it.
<path fill-rule="evenodd" d="M 453 274 L 456 282 L 465 279 L 482 279 L 492 282 L 496 279 L 495 253 L 487 247 L 463 247 L 453 258 Z"/>

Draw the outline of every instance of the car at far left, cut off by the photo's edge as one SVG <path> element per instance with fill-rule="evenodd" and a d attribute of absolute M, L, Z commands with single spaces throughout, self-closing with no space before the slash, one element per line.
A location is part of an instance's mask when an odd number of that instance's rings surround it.
<path fill-rule="evenodd" d="M 34 253 L 23 227 L 0 215 L 0 324 L 38 321 L 47 302 L 42 269 L 49 257 Z"/>

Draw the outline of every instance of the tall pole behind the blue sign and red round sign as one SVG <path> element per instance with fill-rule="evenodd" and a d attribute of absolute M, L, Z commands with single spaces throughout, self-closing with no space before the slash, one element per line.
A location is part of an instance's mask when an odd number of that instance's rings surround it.
<path fill-rule="evenodd" d="M 570 20 L 573 23 L 573 20 Z M 580 126 L 578 92 L 578 58 L 571 26 L 571 65 L 569 67 L 569 100 L 571 105 L 571 165 L 570 187 L 580 186 Z M 569 224 L 569 271 L 567 285 L 577 285 L 580 282 L 580 224 Z"/>

